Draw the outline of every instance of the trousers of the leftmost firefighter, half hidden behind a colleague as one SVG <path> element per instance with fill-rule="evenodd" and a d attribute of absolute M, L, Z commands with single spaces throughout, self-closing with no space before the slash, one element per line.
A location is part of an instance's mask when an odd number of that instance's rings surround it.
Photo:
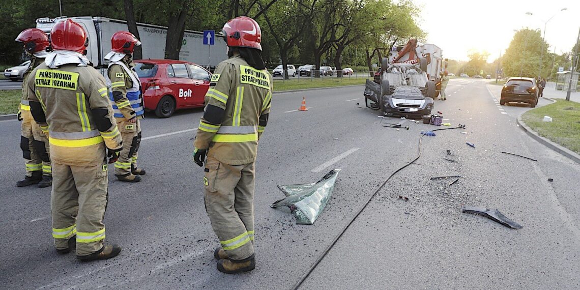
<path fill-rule="evenodd" d="M 38 124 L 32 118 L 30 110 L 23 109 L 22 112 L 22 136 L 20 137 L 20 148 L 26 160 L 26 176 L 31 177 L 32 172 L 42 171 L 43 175 L 51 176 L 50 166 L 50 146 L 45 133 L 41 131 Z"/>

